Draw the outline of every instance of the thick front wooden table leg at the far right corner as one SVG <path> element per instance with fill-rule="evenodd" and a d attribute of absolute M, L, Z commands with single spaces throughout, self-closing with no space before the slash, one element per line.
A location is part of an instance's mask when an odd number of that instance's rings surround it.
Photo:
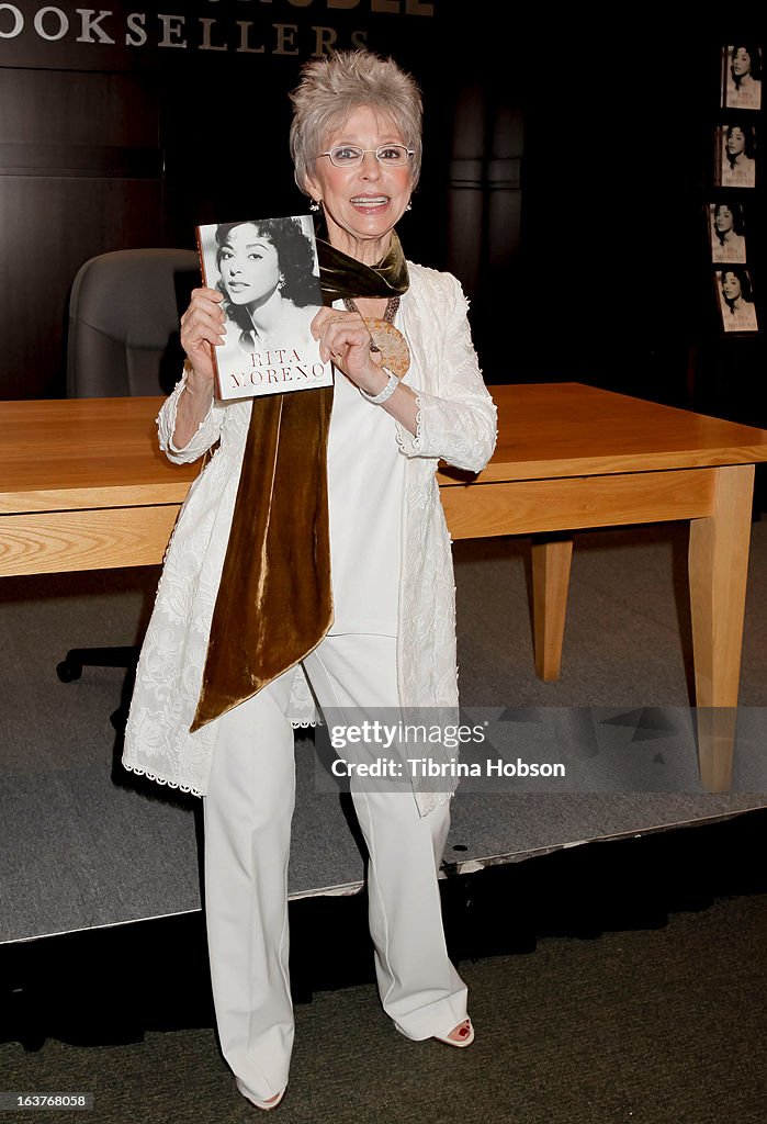
<path fill-rule="evenodd" d="M 713 511 L 690 524 L 690 600 L 701 780 L 730 788 L 751 537 L 754 465 L 716 469 Z"/>

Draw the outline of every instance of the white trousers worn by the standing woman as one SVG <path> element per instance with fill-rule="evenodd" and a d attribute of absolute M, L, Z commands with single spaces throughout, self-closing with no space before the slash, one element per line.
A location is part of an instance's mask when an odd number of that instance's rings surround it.
<path fill-rule="evenodd" d="M 304 661 L 321 707 L 396 707 L 396 642 L 326 637 Z M 221 1050 L 240 1091 L 266 1100 L 287 1084 L 293 1044 L 287 860 L 295 800 L 293 672 L 218 719 L 204 798 L 206 915 Z M 358 714 L 354 720 L 358 720 Z M 369 853 L 368 899 L 378 992 L 410 1039 L 466 1018 L 466 986 L 445 945 L 437 870 L 449 803 L 419 814 L 410 791 L 351 783 Z"/>

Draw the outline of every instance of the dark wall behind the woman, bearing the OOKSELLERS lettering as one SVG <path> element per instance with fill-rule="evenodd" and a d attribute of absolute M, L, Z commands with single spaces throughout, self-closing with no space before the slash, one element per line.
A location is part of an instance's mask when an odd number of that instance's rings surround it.
<path fill-rule="evenodd" d="M 86 257 L 304 212 L 287 91 L 305 58 L 365 40 L 422 85 L 423 175 L 401 235 L 464 282 L 488 381 L 579 379 L 767 424 L 751 374 L 764 332 L 722 341 L 702 211 L 721 45 L 756 29 L 723 21 L 690 42 L 658 35 L 646 7 L 620 27 L 583 8 L 508 24 L 501 7 L 0 3 L 0 396 L 64 392 Z"/>

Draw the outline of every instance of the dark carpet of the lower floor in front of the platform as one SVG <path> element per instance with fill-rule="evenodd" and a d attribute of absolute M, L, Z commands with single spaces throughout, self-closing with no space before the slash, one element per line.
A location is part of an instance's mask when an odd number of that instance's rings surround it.
<path fill-rule="evenodd" d="M 764 1124 L 767 896 L 652 931 L 549 937 L 462 964 L 477 1040 L 465 1053 L 398 1035 L 372 986 L 296 1008 L 281 1124 Z M 8 1090 L 89 1091 L 99 1124 L 245 1124 L 212 1030 L 39 1053 L 0 1045 Z"/>

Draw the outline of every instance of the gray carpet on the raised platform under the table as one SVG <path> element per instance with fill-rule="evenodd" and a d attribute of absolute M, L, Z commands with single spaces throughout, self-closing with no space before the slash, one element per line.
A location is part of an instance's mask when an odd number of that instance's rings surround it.
<path fill-rule="evenodd" d="M 467 711 L 488 708 L 496 717 L 513 711 L 521 719 L 506 723 L 506 733 L 512 726 L 514 736 L 544 729 L 549 741 L 559 737 L 570 750 L 577 750 L 578 729 L 592 742 L 594 731 L 599 737 L 609 731 L 613 740 L 624 738 L 632 762 L 643 762 L 651 777 L 658 776 L 659 754 L 666 768 L 681 761 L 669 752 L 674 738 L 667 731 L 645 729 L 646 741 L 637 747 L 637 731 L 620 723 L 642 708 L 688 717 L 686 534 L 685 525 L 668 524 L 576 538 L 563 673 L 556 683 L 541 683 L 533 671 L 528 541 L 457 543 Z M 199 907 L 189 801 L 156 786 L 136 789 L 113 769 L 110 715 L 125 673 L 86 668 L 72 683 L 55 674 L 70 646 L 133 642 L 146 620 L 156 578 L 157 571 L 147 568 L 0 582 L 0 629 L 9 638 L 0 652 L 0 942 Z M 767 523 L 759 522 L 752 535 L 741 688 L 741 704 L 756 716 L 757 729 L 767 686 L 766 592 Z M 602 719 L 610 715 L 618 725 L 605 725 Z M 676 724 L 684 732 L 684 720 Z M 752 754 L 754 738 L 748 749 Z M 290 872 L 296 897 L 348 892 L 363 874 L 337 795 L 317 783 L 312 753 L 311 743 L 300 740 Z M 748 769 L 743 776 L 748 780 Z M 624 785 L 613 777 L 604 789 L 590 782 L 583 791 L 567 792 L 524 786 L 476 791 L 465 782 L 454 804 L 446 862 L 468 872 L 587 840 L 767 805 L 763 783 L 743 782 L 713 796 L 695 781 L 688 771 L 645 790 L 645 781 Z"/>

